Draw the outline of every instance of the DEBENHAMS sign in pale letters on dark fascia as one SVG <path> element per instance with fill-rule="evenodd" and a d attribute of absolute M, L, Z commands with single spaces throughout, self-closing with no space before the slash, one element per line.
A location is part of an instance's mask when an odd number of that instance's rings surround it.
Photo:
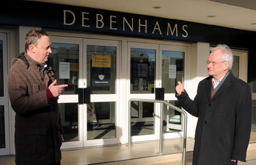
<path fill-rule="evenodd" d="M 97 10 L 79 13 L 75 11 L 63 10 L 63 28 L 167 39 L 184 39 L 189 36 L 188 24 L 180 20 L 105 10 L 100 10 L 102 13 Z"/>

